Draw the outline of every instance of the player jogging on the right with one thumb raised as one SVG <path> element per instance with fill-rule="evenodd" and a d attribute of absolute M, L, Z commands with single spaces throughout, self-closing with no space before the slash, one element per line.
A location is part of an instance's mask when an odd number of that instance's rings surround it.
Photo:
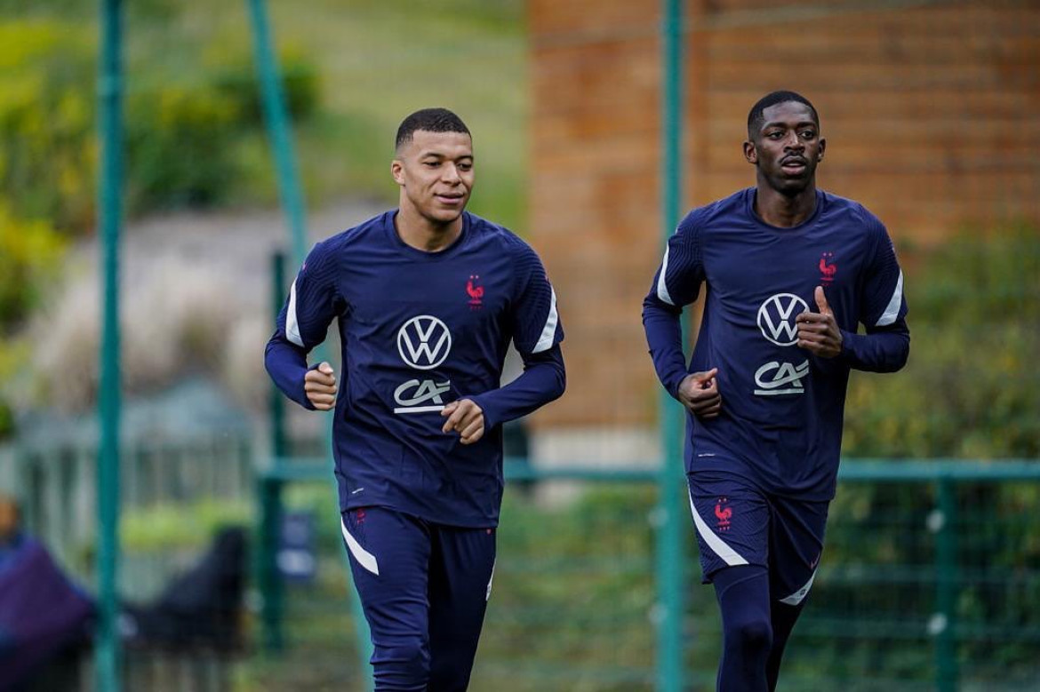
<path fill-rule="evenodd" d="M 657 376 L 687 410 L 690 506 L 722 613 L 726 692 L 776 687 L 823 552 L 850 370 L 894 372 L 910 350 L 892 242 L 861 205 L 816 189 L 825 147 L 804 97 L 756 103 L 744 142 L 755 186 L 682 219 L 643 302 Z M 702 285 L 687 368 L 679 316 Z"/>

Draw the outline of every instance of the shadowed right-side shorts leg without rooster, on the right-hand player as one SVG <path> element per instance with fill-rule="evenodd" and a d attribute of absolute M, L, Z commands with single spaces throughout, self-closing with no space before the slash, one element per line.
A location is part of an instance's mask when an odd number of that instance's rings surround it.
<path fill-rule="evenodd" d="M 829 502 L 772 498 L 770 591 L 774 601 L 798 606 L 809 594 L 824 552 Z"/>

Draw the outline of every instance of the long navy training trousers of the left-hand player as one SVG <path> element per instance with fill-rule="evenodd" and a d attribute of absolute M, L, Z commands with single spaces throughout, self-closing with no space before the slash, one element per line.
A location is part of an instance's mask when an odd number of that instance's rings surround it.
<path fill-rule="evenodd" d="M 361 507 L 343 512 L 342 532 L 371 629 L 375 690 L 466 690 L 491 596 L 495 529 Z"/>

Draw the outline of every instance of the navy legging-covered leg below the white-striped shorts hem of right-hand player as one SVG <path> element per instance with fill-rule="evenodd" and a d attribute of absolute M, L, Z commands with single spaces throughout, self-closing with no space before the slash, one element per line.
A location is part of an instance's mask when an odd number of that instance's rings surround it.
<path fill-rule="evenodd" d="M 765 567 L 726 567 L 711 577 L 722 612 L 723 654 L 719 692 L 764 692 L 773 648 L 770 578 Z"/>

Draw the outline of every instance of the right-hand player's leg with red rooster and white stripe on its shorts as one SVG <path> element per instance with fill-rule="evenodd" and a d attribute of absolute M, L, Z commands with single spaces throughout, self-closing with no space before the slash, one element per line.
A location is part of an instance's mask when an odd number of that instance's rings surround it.
<path fill-rule="evenodd" d="M 713 583 L 723 620 L 720 692 L 765 692 L 773 644 L 770 622 L 770 507 L 742 478 L 691 474 L 690 507 L 705 583 Z"/>

